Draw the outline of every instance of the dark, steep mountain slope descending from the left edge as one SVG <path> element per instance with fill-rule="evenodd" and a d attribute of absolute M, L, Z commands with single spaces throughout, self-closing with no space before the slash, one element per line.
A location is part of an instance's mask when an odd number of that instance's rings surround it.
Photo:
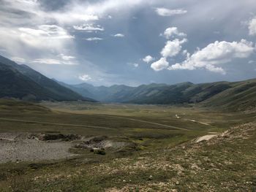
<path fill-rule="evenodd" d="M 0 97 L 25 100 L 86 100 L 78 93 L 34 71 L 26 65 L 18 65 L 0 55 Z M 92 99 L 87 99 L 93 101 Z"/>

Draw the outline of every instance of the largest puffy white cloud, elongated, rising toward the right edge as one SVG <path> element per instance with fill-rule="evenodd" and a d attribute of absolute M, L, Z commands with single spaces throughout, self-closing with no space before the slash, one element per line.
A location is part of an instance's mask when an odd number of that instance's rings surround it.
<path fill-rule="evenodd" d="M 252 42 L 247 42 L 241 39 L 241 42 L 214 42 L 203 48 L 197 50 L 187 60 L 181 64 L 174 64 L 170 66 L 169 70 L 177 69 L 207 69 L 211 72 L 225 74 L 225 70 L 219 67 L 219 64 L 226 64 L 233 60 L 233 58 L 247 58 L 254 52 Z"/>

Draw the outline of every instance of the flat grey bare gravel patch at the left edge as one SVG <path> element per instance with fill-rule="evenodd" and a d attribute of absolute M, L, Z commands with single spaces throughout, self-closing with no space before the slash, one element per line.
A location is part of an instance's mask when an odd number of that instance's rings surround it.
<path fill-rule="evenodd" d="M 71 142 L 47 142 L 31 134 L 0 134 L 0 163 L 72 158 Z"/>

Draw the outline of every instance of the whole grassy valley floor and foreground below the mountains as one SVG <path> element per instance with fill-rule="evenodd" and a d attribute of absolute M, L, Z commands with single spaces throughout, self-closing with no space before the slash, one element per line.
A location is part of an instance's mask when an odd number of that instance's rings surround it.
<path fill-rule="evenodd" d="M 256 188 L 253 112 L 0 100 L 0 115 L 0 191 Z"/>

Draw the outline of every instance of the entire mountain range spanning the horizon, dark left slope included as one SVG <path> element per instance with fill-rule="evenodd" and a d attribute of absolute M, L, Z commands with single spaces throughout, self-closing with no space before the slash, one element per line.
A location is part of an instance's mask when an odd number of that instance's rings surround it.
<path fill-rule="evenodd" d="M 0 56 L 0 97 L 24 100 L 101 101 L 132 104 L 193 104 L 233 110 L 256 108 L 256 79 L 241 82 L 209 82 L 94 86 L 68 85 L 51 80 L 29 66 Z"/>

